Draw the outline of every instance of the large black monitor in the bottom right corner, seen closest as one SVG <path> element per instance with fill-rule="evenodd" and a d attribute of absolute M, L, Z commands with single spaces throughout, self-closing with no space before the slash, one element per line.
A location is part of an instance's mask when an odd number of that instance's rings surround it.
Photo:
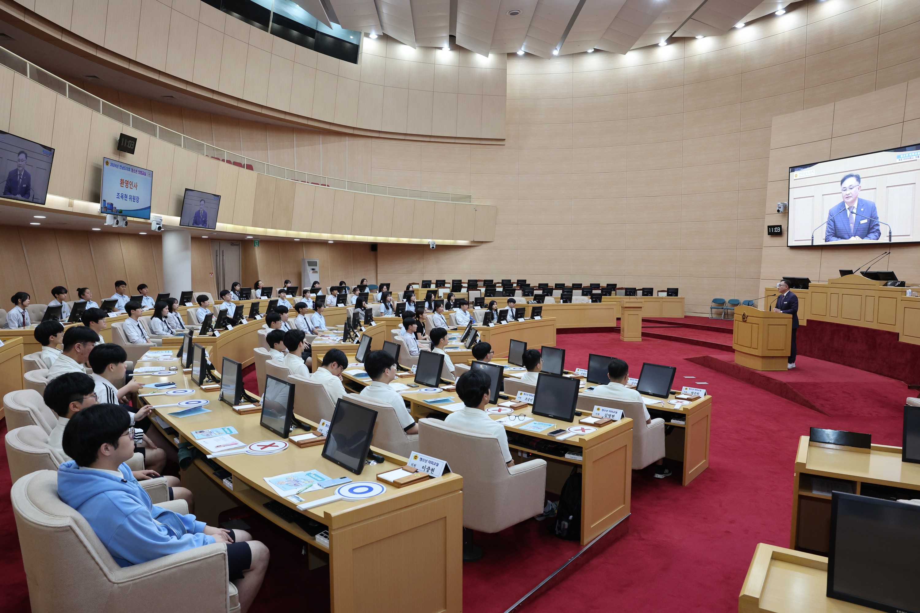
<path fill-rule="evenodd" d="M 827 596 L 881 611 L 920 610 L 920 505 L 834 492 Z"/>

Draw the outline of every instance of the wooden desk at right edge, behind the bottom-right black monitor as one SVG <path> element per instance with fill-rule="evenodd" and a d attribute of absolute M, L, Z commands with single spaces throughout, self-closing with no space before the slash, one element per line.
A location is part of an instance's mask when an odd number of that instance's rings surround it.
<path fill-rule="evenodd" d="M 808 437 L 799 437 L 789 547 L 812 553 L 827 553 L 831 535 L 831 496 L 812 491 L 815 477 L 845 482 L 853 494 L 920 491 L 920 464 L 901 461 L 900 447 L 873 445 L 869 453 L 861 453 L 811 446 Z"/>

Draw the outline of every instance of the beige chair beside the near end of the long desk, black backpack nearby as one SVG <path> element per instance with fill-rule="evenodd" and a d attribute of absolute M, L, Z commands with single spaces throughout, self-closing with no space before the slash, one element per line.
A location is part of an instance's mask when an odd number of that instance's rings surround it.
<path fill-rule="evenodd" d="M 431 418 L 419 420 L 419 450 L 463 475 L 464 528 L 494 533 L 543 513 L 546 460 L 508 468 L 496 438 Z M 481 557 L 471 535 L 465 537 L 464 560 Z"/>

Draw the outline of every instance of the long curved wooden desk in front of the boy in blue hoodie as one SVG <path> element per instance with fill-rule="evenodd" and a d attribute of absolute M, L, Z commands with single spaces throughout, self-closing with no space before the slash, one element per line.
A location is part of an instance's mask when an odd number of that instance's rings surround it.
<path fill-rule="evenodd" d="M 162 364 L 151 362 L 149 364 Z M 270 430 L 259 426 L 259 414 L 237 415 L 217 400 L 218 392 L 201 392 L 179 372 L 173 377 L 148 377 L 146 380 L 175 380 L 178 385 L 195 389 L 183 399 L 205 398 L 211 413 L 174 418 L 168 412 L 178 407 L 157 409 L 156 413 L 178 432 L 180 441 L 196 444 L 192 430 L 234 426 L 237 439 L 247 443 L 279 440 Z M 166 403 L 166 396 L 155 396 L 152 403 Z M 314 425 L 315 426 L 315 425 Z M 202 448 L 202 451 L 205 451 Z M 451 611 L 462 609 L 462 527 L 463 479 L 448 473 L 401 489 L 384 484 L 385 493 L 364 501 L 339 501 L 302 511 L 328 526 L 329 547 L 316 542 L 296 524 L 288 523 L 266 509 L 263 504 L 275 500 L 294 508 L 295 504 L 274 493 L 263 477 L 284 472 L 317 470 L 328 477 L 348 476 L 355 482 L 376 482 L 374 475 L 403 466 L 406 460 L 383 449 L 374 451 L 385 457 L 383 464 L 366 466 L 355 475 L 321 457 L 322 446 L 298 448 L 290 445 L 270 456 L 241 454 L 215 461 L 233 474 L 233 489 L 213 476 L 213 469 L 201 460 L 182 474 L 182 484 L 195 492 L 196 512 L 216 510 L 223 499 L 232 505 L 243 504 L 272 523 L 287 530 L 307 545 L 311 559 L 328 559 L 332 611 L 364 613 L 384 611 L 403 613 L 408 610 Z M 330 492 L 300 494 L 305 500 L 329 495 Z M 206 517 L 206 516 L 205 516 Z M 385 561 L 385 563 L 381 563 Z M 423 568 L 426 579 L 412 589 L 393 581 L 397 569 Z"/>

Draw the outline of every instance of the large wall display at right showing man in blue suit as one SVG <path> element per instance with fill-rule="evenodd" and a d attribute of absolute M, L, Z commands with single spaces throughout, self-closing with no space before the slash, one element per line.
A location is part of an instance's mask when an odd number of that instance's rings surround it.
<path fill-rule="evenodd" d="M 787 244 L 920 242 L 920 144 L 789 168 Z"/>

